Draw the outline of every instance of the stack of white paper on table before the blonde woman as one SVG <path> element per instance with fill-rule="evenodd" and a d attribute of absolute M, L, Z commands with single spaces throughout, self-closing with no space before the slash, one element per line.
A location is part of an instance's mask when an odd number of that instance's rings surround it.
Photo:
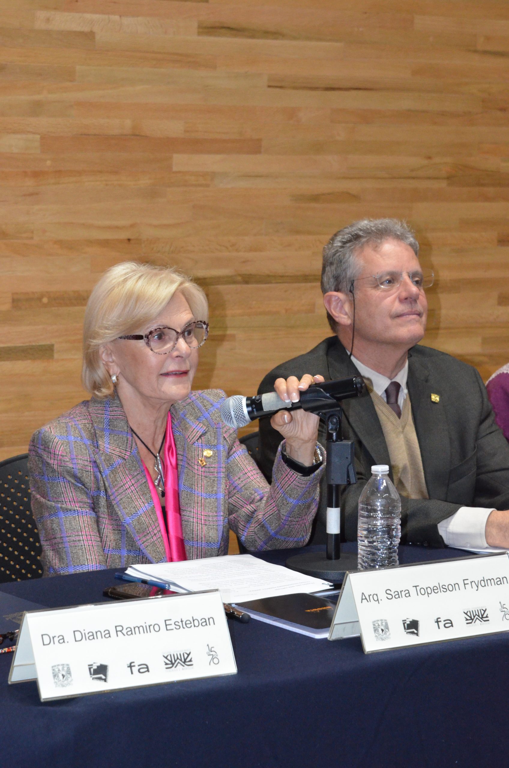
<path fill-rule="evenodd" d="M 331 584 L 305 576 L 282 565 L 266 563 L 252 554 L 225 554 L 220 558 L 185 560 L 180 563 L 131 565 L 135 578 L 150 579 L 176 592 L 218 589 L 225 603 L 274 598 L 278 594 L 318 592 Z"/>

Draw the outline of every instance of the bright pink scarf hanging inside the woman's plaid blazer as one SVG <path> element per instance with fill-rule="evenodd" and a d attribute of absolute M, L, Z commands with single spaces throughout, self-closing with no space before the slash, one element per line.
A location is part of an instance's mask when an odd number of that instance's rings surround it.
<path fill-rule="evenodd" d="M 165 473 L 165 507 L 166 507 L 166 525 L 165 518 L 161 508 L 161 501 L 154 481 L 151 478 L 148 468 L 141 461 L 147 475 L 148 488 L 150 488 L 152 501 L 155 511 L 158 515 L 161 536 L 165 545 L 166 560 L 168 562 L 178 562 L 187 560 L 185 554 L 184 537 L 182 535 L 182 521 L 180 515 L 180 501 L 178 498 L 178 467 L 177 467 L 177 449 L 175 448 L 175 439 L 171 429 L 171 415 L 168 411 L 168 421 L 166 422 L 165 447 L 162 455 L 163 472 Z"/>

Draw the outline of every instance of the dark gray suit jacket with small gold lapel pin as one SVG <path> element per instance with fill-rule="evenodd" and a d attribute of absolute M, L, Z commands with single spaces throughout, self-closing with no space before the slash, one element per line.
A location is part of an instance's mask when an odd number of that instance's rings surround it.
<path fill-rule="evenodd" d="M 331 336 L 310 352 L 274 368 L 258 392 L 271 392 L 279 376 L 286 379 L 304 373 L 321 374 L 326 381 L 358 376 L 344 346 Z M 429 499 L 401 498 L 401 541 L 443 547 L 437 524 L 460 507 L 509 509 L 509 444 L 494 421 L 481 376 L 472 366 L 437 349 L 414 346 L 408 353 L 408 393 Z M 440 396 L 440 402 L 431 401 L 432 393 Z M 358 498 L 371 477 L 371 465 L 391 465 L 368 392 L 344 400 L 343 435 L 355 444 L 358 482 L 344 490 L 341 501 L 346 538 L 355 541 Z M 318 437 L 324 444 L 322 422 Z M 268 478 L 279 442 L 281 435 L 271 428 L 270 419 L 261 419 L 261 469 Z M 326 508 L 322 485 L 311 543 L 325 541 Z"/>

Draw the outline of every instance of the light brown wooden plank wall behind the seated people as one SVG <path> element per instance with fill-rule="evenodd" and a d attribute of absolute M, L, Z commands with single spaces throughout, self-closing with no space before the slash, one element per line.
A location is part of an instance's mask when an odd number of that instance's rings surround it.
<path fill-rule="evenodd" d="M 507 0 L 2 0 L 0 458 L 78 402 L 125 259 L 211 301 L 198 386 L 255 392 L 328 333 L 321 247 L 418 231 L 427 343 L 509 360 Z"/>

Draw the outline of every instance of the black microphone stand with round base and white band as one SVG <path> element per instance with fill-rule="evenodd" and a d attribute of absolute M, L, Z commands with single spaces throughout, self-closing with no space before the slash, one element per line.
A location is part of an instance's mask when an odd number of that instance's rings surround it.
<path fill-rule="evenodd" d="M 327 551 L 294 554 L 286 561 L 287 568 L 308 576 L 316 576 L 333 584 L 341 584 L 346 571 L 357 571 L 357 554 L 341 553 L 341 529 L 344 529 L 344 511 L 341 511 L 341 486 L 357 482 L 354 469 L 354 443 L 343 440 L 341 406 L 318 413 L 327 424 Z"/>

